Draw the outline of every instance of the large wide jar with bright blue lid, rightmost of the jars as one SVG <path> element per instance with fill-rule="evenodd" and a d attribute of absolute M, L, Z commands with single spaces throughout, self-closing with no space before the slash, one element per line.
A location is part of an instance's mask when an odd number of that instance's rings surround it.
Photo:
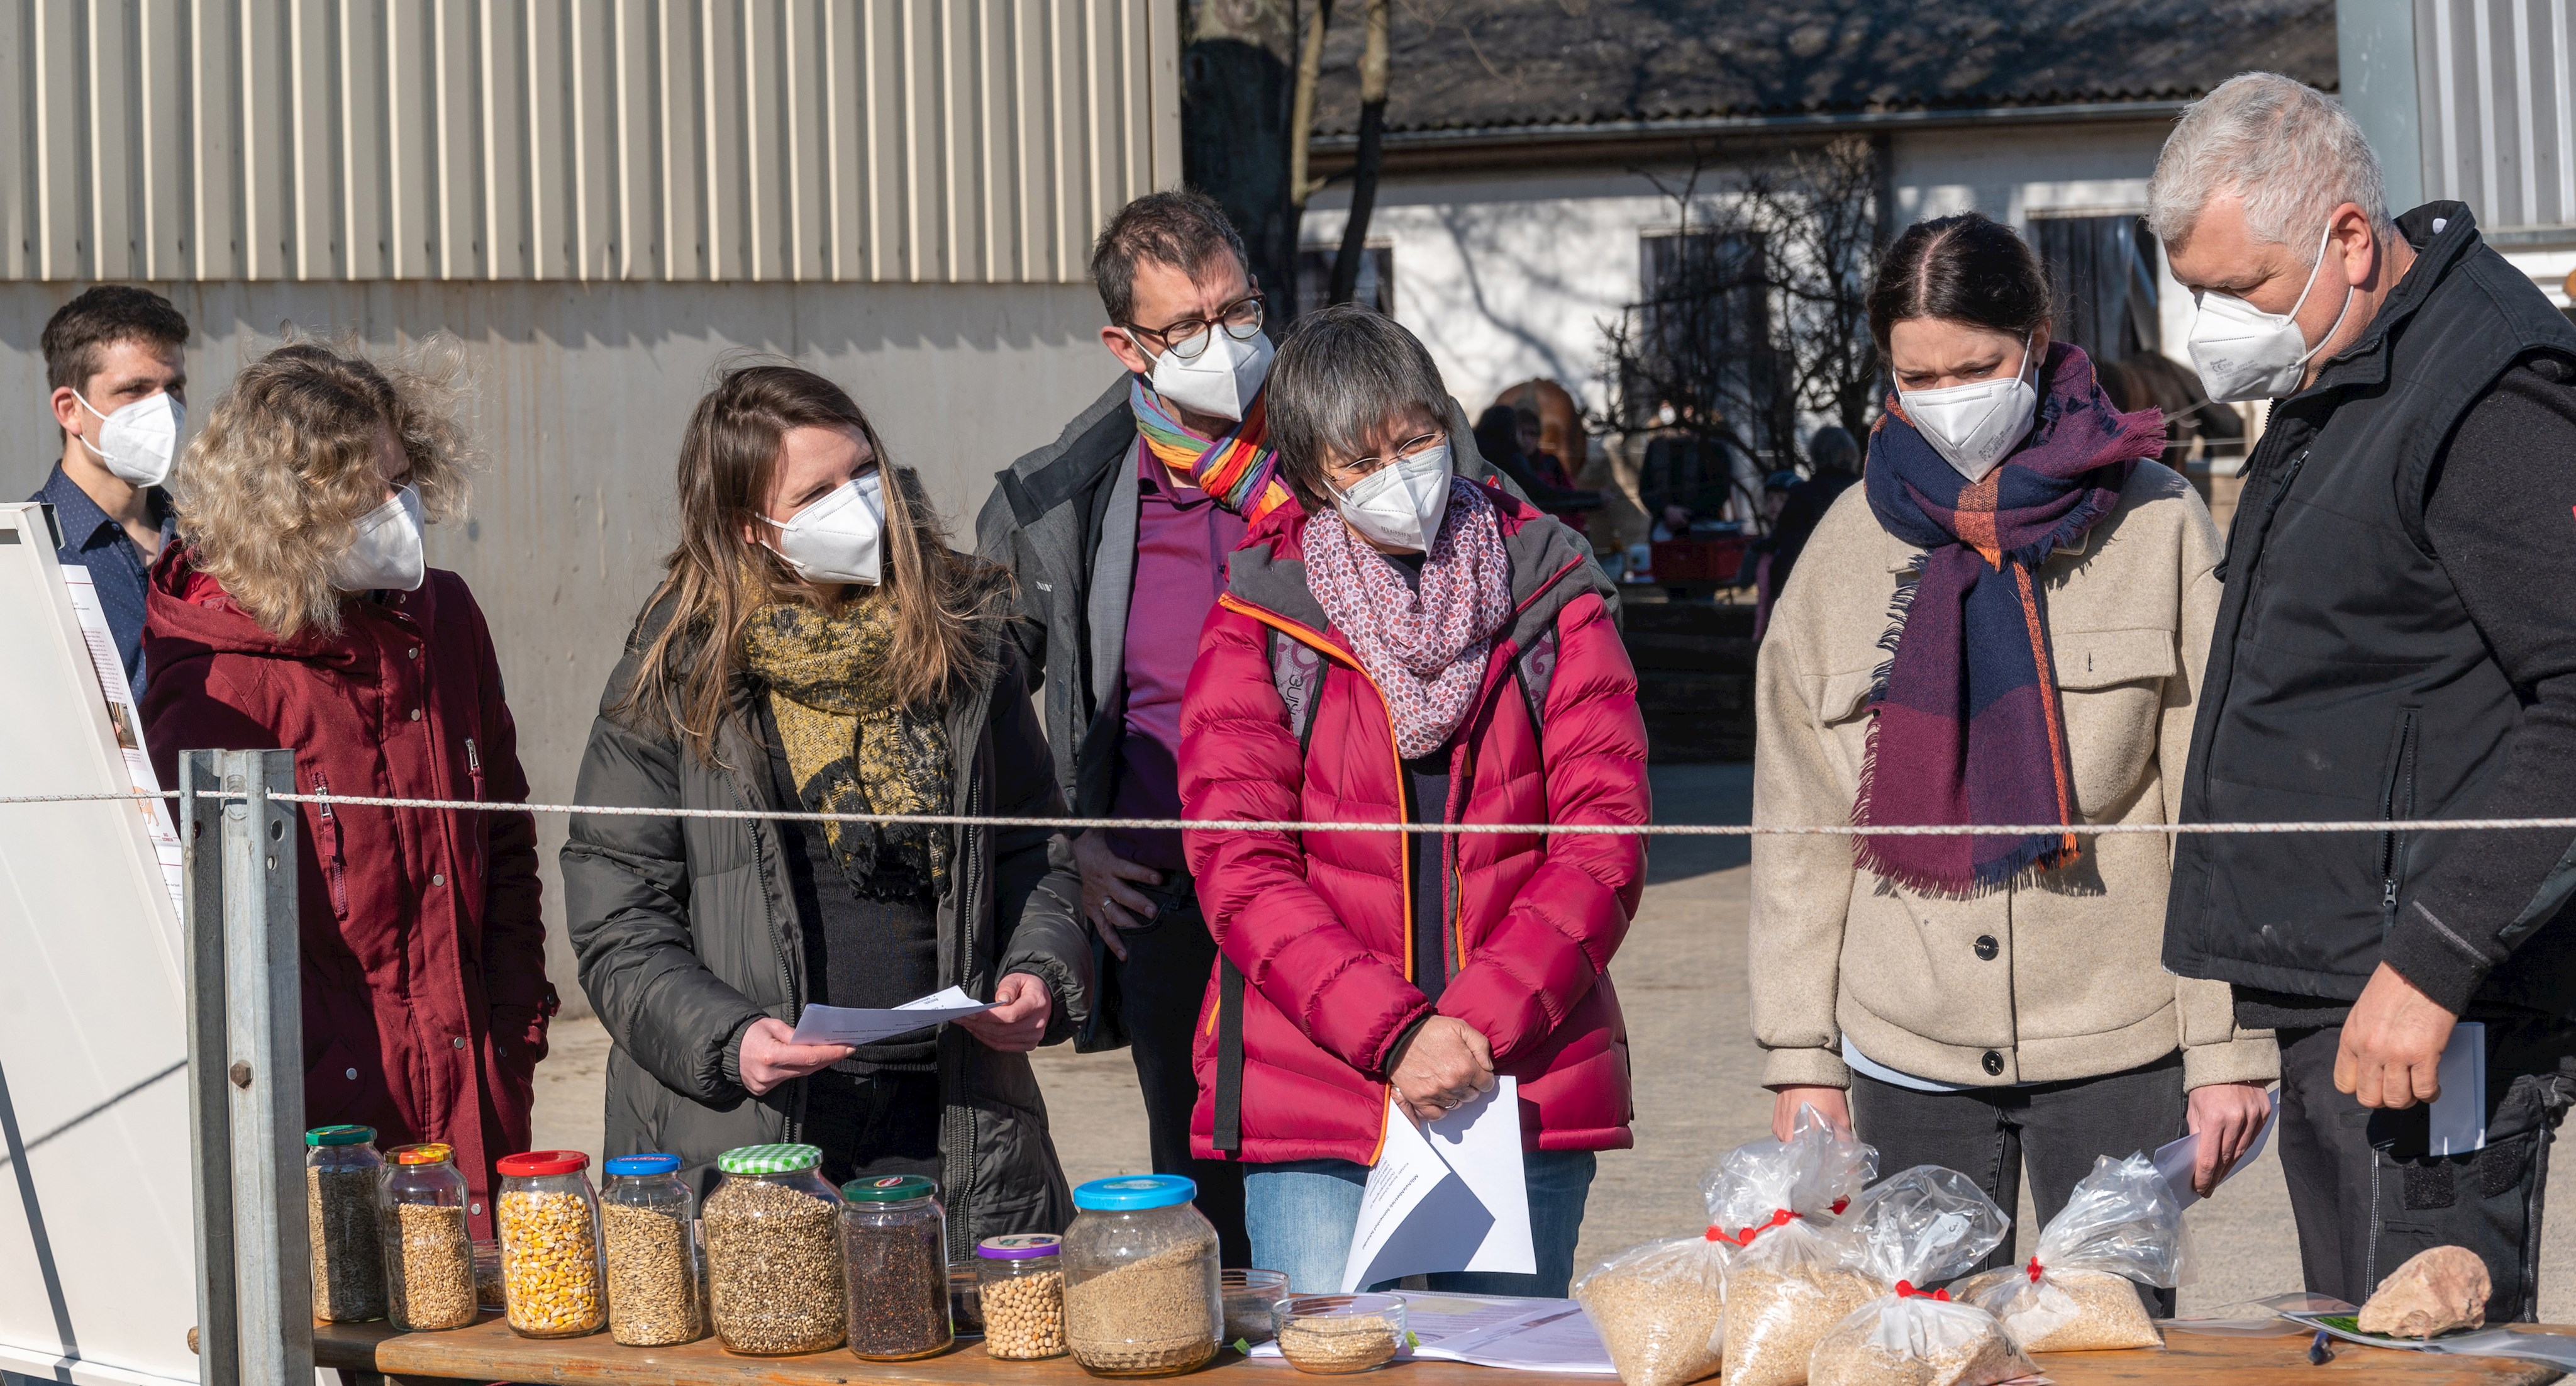
<path fill-rule="evenodd" d="M 1198 1185 L 1182 1175 L 1121 1175 L 1074 1190 L 1064 1345 L 1092 1376 L 1175 1376 L 1216 1358 L 1226 1322 L 1216 1226 L 1193 1198 Z"/>

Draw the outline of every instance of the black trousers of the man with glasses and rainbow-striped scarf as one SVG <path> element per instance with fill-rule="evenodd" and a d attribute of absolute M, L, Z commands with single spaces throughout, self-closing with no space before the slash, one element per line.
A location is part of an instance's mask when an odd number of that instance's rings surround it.
<path fill-rule="evenodd" d="M 1110 961 L 1118 1015 L 1136 1054 L 1136 1085 L 1144 1090 L 1146 1149 L 1157 1175 L 1198 1180 L 1198 1211 L 1216 1224 L 1224 1265 L 1252 1265 L 1244 1167 L 1190 1157 L 1190 1108 L 1198 1105 L 1190 1043 L 1216 971 L 1216 938 L 1208 935 L 1190 881 L 1177 871 L 1167 876 L 1172 881 L 1162 886 L 1136 886 L 1154 899 L 1157 915 L 1144 927 L 1121 933 L 1128 956 L 1123 964 Z"/>

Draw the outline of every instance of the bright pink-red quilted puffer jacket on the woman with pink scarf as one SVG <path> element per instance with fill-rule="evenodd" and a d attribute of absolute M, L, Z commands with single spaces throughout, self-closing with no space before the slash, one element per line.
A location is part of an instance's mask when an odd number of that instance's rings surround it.
<path fill-rule="evenodd" d="M 1607 585 L 1561 523 L 1499 489 L 1492 500 L 1517 613 L 1450 742 L 1448 822 L 1643 824 L 1646 726 L 1602 603 Z M 1180 714 L 1185 817 L 1401 822 L 1386 701 L 1306 590 L 1306 518 L 1293 510 L 1273 513 L 1234 551 L 1229 590 L 1200 631 Z M 1273 660 L 1306 649 L 1324 672 L 1301 752 Z M 1540 685 L 1543 716 L 1533 719 L 1528 698 Z M 1643 837 L 1448 837 L 1453 971 L 1437 1007 L 1412 984 L 1414 930 L 1432 920 L 1414 920 L 1401 832 L 1190 832 L 1185 842 L 1208 927 L 1244 979 L 1231 1023 L 1226 969 L 1208 982 L 1195 1154 L 1221 1157 L 1216 1105 L 1229 1085 L 1218 1059 L 1239 1033 L 1242 1136 L 1226 1157 L 1376 1162 L 1386 1051 L 1435 1010 L 1484 1033 L 1497 1072 L 1520 1079 L 1525 1146 L 1631 1144 L 1628 1033 L 1607 966 L 1636 915 Z"/>

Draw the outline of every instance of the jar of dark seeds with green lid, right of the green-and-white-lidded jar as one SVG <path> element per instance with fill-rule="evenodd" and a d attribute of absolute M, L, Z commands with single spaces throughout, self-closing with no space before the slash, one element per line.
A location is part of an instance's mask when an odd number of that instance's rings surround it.
<path fill-rule="evenodd" d="M 922 1175 L 840 1185 L 840 1260 L 850 1275 L 850 1353 L 899 1363 L 945 1353 L 948 1213 Z"/>

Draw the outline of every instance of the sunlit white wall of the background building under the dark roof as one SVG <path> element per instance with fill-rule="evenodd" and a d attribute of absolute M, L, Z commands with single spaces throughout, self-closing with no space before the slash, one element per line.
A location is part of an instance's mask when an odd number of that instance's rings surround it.
<path fill-rule="evenodd" d="M 1901 224 L 1984 211 L 2146 211 L 2161 124 L 1960 129 L 1901 134 L 1891 178 Z M 1687 170 L 1656 170 L 1680 185 Z M 1703 178 L 1703 193 L 1716 175 Z M 1340 245 L 1347 191 L 1319 193 L 1306 245 Z M 1394 178 L 1368 222 L 1394 247 L 1396 319 L 1440 361 L 1471 412 L 1504 386 L 1551 376 L 1602 404 L 1600 325 L 1638 296 L 1638 234 L 1680 222 L 1677 204 L 1636 170 L 1535 170 L 1525 178 Z M 2190 327 L 2190 299 L 2164 294 L 2164 340 Z"/>

